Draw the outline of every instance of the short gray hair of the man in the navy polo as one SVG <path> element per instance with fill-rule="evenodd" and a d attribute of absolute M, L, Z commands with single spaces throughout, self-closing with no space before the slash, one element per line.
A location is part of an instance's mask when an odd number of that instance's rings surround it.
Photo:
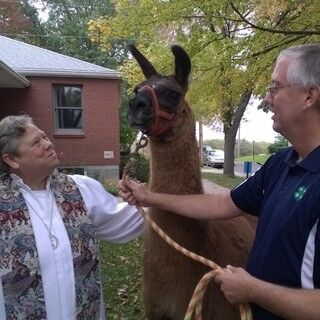
<path fill-rule="evenodd" d="M 281 51 L 278 59 L 288 59 L 287 79 L 302 88 L 320 85 L 320 44 L 305 44 Z"/>

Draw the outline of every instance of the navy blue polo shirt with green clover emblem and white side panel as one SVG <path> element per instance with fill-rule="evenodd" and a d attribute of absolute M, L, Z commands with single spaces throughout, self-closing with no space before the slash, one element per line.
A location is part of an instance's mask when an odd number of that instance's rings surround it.
<path fill-rule="evenodd" d="M 297 158 L 292 148 L 271 156 L 231 197 L 259 217 L 247 271 L 287 287 L 320 288 L 320 146 Z M 254 304 L 252 312 L 255 320 L 282 319 Z"/>

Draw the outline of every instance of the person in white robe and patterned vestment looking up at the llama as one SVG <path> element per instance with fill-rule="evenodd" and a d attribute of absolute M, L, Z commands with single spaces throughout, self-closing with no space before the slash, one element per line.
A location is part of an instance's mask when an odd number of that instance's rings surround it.
<path fill-rule="evenodd" d="M 89 177 L 55 168 L 28 116 L 0 121 L 0 319 L 104 319 L 98 239 L 126 242 L 143 219 Z"/>

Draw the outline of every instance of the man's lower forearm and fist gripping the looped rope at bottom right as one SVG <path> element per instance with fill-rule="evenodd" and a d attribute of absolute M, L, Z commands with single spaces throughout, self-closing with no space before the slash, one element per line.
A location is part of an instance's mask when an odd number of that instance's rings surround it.
<path fill-rule="evenodd" d="M 231 303 L 255 303 L 291 320 L 320 319 L 320 290 L 293 289 L 251 276 L 242 268 L 228 266 L 215 278 Z"/>

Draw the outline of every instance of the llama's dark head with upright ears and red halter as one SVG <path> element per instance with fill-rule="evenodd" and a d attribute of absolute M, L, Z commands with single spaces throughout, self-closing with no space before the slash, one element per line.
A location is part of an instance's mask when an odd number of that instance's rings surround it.
<path fill-rule="evenodd" d="M 191 62 L 180 46 L 172 46 L 175 73 L 159 74 L 145 56 L 133 45 L 129 46 L 146 78 L 138 84 L 135 96 L 129 101 L 128 121 L 131 126 L 153 137 L 169 138 L 181 125 L 180 118 L 187 113 L 184 100 L 188 90 Z"/>

